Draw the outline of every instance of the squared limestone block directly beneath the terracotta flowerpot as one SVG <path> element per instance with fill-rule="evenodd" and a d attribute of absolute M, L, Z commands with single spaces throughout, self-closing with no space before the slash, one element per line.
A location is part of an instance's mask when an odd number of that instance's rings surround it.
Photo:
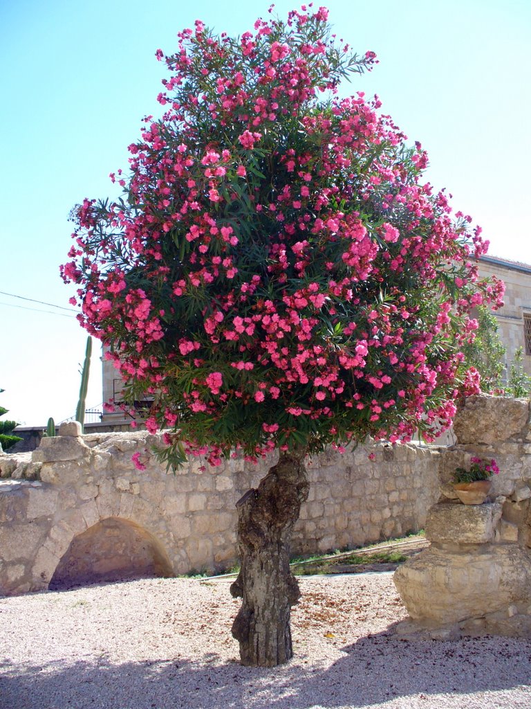
<path fill-rule="evenodd" d="M 494 538 L 502 507 L 483 505 L 434 505 L 426 520 L 426 539 L 434 544 L 485 544 Z"/>

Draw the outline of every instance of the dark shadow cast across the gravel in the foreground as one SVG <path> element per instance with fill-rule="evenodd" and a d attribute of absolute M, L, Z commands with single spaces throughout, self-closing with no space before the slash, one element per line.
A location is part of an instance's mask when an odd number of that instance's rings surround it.
<path fill-rule="evenodd" d="M 331 666 L 298 656 L 276 669 L 105 657 L 47 665 L 0 662 L 1 709 L 309 709 L 531 706 L 531 642 L 484 637 L 406 642 L 388 632 L 342 648 Z M 445 697 L 441 698 L 440 695 Z M 503 698 L 502 698 L 503 696 Z"/>

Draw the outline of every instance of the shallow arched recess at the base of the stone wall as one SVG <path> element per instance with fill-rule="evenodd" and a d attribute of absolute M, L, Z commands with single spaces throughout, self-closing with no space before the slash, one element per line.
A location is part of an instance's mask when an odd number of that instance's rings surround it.
<path fill-rule="evenodd" d="M 52 576 L 52 591 L 101 583 L 173 576 L 161 543 L 129 520 L 109 517 L 72 540 Z"/>

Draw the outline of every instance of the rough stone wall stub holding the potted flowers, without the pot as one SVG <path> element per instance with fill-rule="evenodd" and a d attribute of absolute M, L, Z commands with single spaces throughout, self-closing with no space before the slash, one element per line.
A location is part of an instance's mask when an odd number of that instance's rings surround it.
<path fill-rule="evenodd" d="M 413 622 L 403 634 L 531 637 L 530 401 L 474 396 L 455 419 L 457 445 L 440 459 L 440 500 L 428 512 L 431 546 L 394 581 Z M 496 459 L 486 503 L 464 506 L 450 485 L 472 456 Z"/>

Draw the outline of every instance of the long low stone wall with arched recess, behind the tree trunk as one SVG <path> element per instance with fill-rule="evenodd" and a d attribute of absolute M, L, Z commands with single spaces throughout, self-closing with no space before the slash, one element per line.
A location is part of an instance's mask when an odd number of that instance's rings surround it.
<path fill-rule="evenodd" d="M 173 474 L 152 452 L 158 443 L 144 431 L 59 435 L 33 454 L 0 456 L 0 593 L 38 591 L 52 579 L 60 586 L 232 566 L 235 503 L 273 460 L 212 468 L 192 459 Z M 132 463 L 136 452 L 144 471 Z M 355 547 L 423 527 L 438 498 L 439 459 L 436 449 L 375 445 L 309 460 L 292 551 Z"/>

